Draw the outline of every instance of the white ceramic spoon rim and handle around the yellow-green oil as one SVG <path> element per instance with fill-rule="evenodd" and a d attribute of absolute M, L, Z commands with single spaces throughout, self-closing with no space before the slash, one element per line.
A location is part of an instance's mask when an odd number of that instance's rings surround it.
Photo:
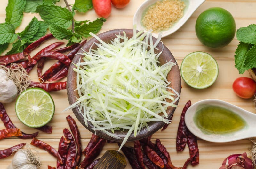
<path fill-rule="evenodd" d="M 193 117 L 198 109 L 201 107 L 204 107 L 205 105 L 211 105 L 211 106 L 218 106 L 223 107 L 228 110 L 231 110 L 232 112 L 238 114 L 241 118 L 246 121 L 247 125 L 234 133 L 229 134 L 204 134 L 196 124 L 194 123 Z M 235 105 L 232 105 L 228 102 L 217 100 L 217 99 L 208 99 L 208 100 L 202 100 L 199 102 L 196 102 L 191 107 L 188 108 L 186 115 L 185 115 L 185 123 L 195 136 L 206 140 L 210 142 L 216 142 L 216 143 L 224 143 L 224 142 L 231 142 L 236 140 L 241 140 L 244 138 L 251 138 L 256 137 L 256 114 L 248 112 L 240 107 L 237 107 Z"/>

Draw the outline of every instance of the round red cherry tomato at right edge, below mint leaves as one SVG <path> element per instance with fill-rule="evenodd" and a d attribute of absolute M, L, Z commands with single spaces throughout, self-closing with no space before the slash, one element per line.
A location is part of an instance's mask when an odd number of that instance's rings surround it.
<path fill-rule="evenodd" d="M 248 77 L 239 77 L 233 83 L 233 90 L 237 96 L 249 99 L 256 93 L 256 82 Z"/>

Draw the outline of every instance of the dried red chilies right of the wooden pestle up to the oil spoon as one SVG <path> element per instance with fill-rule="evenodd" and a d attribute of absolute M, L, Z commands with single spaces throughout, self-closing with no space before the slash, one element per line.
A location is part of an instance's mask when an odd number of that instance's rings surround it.
<path fill-rule="evenodd" d="M 127 157 L 133 169 L 186 169 L 188 164 L 192 166 L 199 164 L 199 149 L 196 136 L 194 136 L 186 127 L 184 117 L 188 107 L 191 106 L 189 100 L 181 114 L 180 124 L 177 133 L 176 149 L 183 151 L 188 144 L 190 158 L 184 163 L 183 167 L 175 167 L 172 164 L 171 157 L 167 149 L 161 144 L 159 139 L 156 139 L 156 144 L 151 140 L 151 136 L 134 142 L 134 147 L 122 147 L 124 155 Z M 163 130 L 167 126 L 164 126 Z M 120 144 L 118 144 L 120 146 Z M 142 151 L 143 150 L 143 151 Z"/>

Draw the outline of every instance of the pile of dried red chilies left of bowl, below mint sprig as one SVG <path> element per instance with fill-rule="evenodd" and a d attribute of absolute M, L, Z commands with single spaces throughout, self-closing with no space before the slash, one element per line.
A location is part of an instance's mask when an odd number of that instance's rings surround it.
<path fill-rule="evenodd" d="M 0 56 L 0 64 L 6 65 L 7 68 L 11 67 L 11 63 L 20 64 L 24 69 L 26 69 L 27 73 L 29 73 L 30 70 L 32 70 L 33 67 L 37 64 L 37 75 L 41 83 L 31 81 L 31 87 L 39 87 L 47 92 L 66 89 L 66 82 L 45 83 L 45 81 L 52 82 L 66 77 L 71 60 L 74 58 L 75 54 L 81 48 L 81 46 L 86 43 L 86 40 L 81 44 L 75 43 L 71 46 L 59 49 L 56 48 L 60 45 L 63 45 L 64 42 L 56 42 L 43 48 L 33 57 L 30 56 L 30 53 L 34 49 L 38 48 L 44 41 L 51 38 L 53 38 L 53 35 L 47 34 L 31 43 L 21 53 Z M 64 55 L 63 53 L 65 52 L 69 53 Z M 54 63 L 48 70 L 44 72 L 44 74 L 42 74 L 44 63 L 47 58 L 56 59 L 58 62 Z"/>

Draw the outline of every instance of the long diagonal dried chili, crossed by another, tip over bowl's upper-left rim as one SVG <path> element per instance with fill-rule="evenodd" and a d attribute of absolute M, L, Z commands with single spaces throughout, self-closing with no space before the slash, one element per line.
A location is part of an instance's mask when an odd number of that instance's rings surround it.
<path fill-rule="evenodd" d="M 74 48 L 71 52 L 67 54 L 68 58 L 72 60 L 75 56 L 75 54 L 78 52 L 78 50 L 86 43 L 87 40 L 83 41 L 79 46 Z M 41 76 L 41 78 L 45 81 L 50 79 L 53 75 L 55 75 L 57 72 L 59 72 L 65 65 L 61 62 L 54 63 L 48 70 L 44 72 L 44 74 Z"/>

